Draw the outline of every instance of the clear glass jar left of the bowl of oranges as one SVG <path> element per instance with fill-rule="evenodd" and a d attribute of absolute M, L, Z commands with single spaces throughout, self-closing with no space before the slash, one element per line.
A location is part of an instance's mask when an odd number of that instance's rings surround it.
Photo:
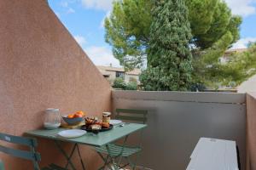
<path fill-rule="evenodd" d="M 55 129 L 61 126 L 60 110 L 49 108 L 45 110 L 44 127 L 48 129 Z"/>

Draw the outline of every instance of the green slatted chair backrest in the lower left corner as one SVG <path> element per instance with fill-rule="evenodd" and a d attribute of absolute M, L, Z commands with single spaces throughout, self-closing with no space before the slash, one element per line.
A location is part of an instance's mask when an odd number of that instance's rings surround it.
<path fill-rule="evenodd" d="M 33 162 L 34 169 L 36 170 L 39 169 L 38 161 L 41 160 L 41 156 L 38 152 L 35 151 L 35 147 L 38 145 L 36 139 L 14 136 L 6 133 L 0 133 L 0 140 L 9 142 L 11 144 L 21 144 L 21 145 L 28 146 L 30 148 L 29 151 L 17 150 L 17 149 L 5 147 L 2 144 L 0 144 L 0 151 L 10 156 L 15 156 L 22 159 L 30 160 Z"/>

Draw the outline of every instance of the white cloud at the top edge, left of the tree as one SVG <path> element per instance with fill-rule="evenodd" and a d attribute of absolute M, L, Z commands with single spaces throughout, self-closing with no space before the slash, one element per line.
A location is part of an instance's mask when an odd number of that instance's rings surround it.
<path fill-rule="evenodd" d="M 109 11 L 112 8 L 113 0 L 81 0 L 85 8 L 95 8 Z"/>

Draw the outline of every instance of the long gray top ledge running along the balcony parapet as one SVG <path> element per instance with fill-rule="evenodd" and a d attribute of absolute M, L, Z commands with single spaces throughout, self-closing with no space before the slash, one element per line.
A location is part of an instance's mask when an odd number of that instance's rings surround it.
<path fill-rule="evenodd" d="M 143 99 L 201 103 L 245 104 L 246 94 L 212 93 L 212 92 L 145 92 L 145 91 L 112 91 L 113 98 Z"/>

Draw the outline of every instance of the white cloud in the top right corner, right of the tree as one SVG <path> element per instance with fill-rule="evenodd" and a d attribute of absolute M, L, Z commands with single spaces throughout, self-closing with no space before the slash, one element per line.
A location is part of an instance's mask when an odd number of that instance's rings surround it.
<path fill-rule="evenodd" d="M 232 9 L 233 14 L 239 14 L 241 16 L 248 16 L 256 13 L 256 8 L 253 3 L 256 0 L 224 0 L 228 3 L 229 7 Z"/>

